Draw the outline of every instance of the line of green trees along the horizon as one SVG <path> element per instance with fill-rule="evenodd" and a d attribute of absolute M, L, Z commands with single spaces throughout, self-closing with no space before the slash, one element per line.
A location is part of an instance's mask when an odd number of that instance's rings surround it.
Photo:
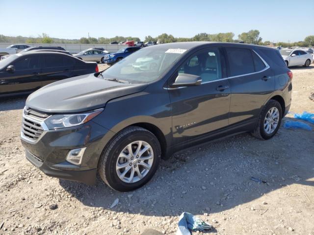
<path fill-rule="evenodd" d="M 159 43 L 175 43 L 175 42 L 192 42 L 192 41 L 211 41 L 211 42 L 244 42 L 248 44 L 264 45 L 264 46 L 282 46 L 282 47 L 309 47 L 314 46 L 314 35 L 307 36 L 303 41 L 299 42 L 277 42 L 272 43 L 270 41 L 262 41 L 259 30 L 250 30 L 238 35 L 237 39 L 234 39 L 235 34 L 233 32 L 227 33 L 199 33 L 192 38 L 176 38 L 171 34 L 160 34 L 157 37 L 150 35 L 145 36 L 144 42 L 159 42 Z M 110 42 L 126 42 L 126 41 L 141 41 L 138 37 L 122 37 L 115 36 L 113 38 L 105 37 L 82 37 L 80 39 L 60 39 L 51 38 L 46 33 L 39 35 L 38 37 L 10 37 L 0 34 L 0 43 L 59 43 L 59 44 L 109 44 Z"/>

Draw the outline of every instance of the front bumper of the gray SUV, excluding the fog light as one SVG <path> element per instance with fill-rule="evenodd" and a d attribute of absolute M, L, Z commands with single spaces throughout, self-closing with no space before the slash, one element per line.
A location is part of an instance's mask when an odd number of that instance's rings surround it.
<path fill-rule="evenodd" d="M 92 120 L 76 127 L 45 131 L 36 142 L 21 138 L 26 159 L 46 175 L 85 184 L 96 181 L 97 165 L 113 132 Z M 86 147 L 81 164 L 66 161 L 72 149 Z"/>

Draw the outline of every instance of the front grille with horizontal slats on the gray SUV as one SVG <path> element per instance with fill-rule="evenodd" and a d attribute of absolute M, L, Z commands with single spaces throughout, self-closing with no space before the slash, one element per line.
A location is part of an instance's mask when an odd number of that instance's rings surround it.
<path fill-rule="evenodd" d="M 41 123 L 48 117 L 47 114 L 25 109 L 22 120 L 22 137 L 28 141 L 37 141 L 44 132 Z"/>

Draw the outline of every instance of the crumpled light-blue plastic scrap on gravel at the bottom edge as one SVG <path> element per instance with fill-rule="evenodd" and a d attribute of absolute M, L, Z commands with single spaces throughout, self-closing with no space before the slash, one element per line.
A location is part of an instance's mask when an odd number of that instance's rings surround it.
<path fill-rule="evenodd" d="M 212 229 L 210 224 L 195 217 L 193 214 L 183 212 L 179 217 L 177 235 L 190 235 L 190 231 L 204 231 Z"/>

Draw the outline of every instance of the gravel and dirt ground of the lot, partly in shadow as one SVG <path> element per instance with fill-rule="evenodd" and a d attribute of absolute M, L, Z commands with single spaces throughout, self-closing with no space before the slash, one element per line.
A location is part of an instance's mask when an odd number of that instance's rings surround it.
<path fill-rule="evenodd" d="M 291 70 L 290 111 L 313 113 L 314 65 Z M 190 148 L 162 161 L 145 187 L 120 193 L 100 180 L 86 186 L 45 176 L 27 162 L 24 104 L 25 97 L 0 101 L 0 234 L 133 235 L 151 228 L 174 235 L 187 211 L 213 225 L 209 234 L 314 235 L 313 131 L 281 127 L 269 141 L 242 134 Z"/>

